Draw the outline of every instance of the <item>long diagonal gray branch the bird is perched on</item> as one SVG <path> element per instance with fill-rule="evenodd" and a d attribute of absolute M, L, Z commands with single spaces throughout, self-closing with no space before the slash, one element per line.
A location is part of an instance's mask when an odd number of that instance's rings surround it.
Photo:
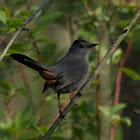
<path fill-rule="evenodd" d="M 110 46 L 108 52 L 104 56 L 104 58 L 100 61 L 97 68 L 94 70 L 94 72 L 91 74 L 87 82 L 80 88 L 79 92 L 75 95 L 75 97 L 70 101 L 70 103 L 66 106 L 66 108 L 63 111 L 63 114 L 66 116 L 67 113 L 71 110 L 71 108 L 76 104 L 78 99 L 84 94 L 86 89 L 91 85 L 92 81 L 96 79 L 98 74 L 100 73 L 100 70 L 102 66 L 106 63 L 106 61 L 109 59 L 109 57 L 114 53 L 114 51 L 117 49 L 120 42 L 124 39 L 124 37 L 129 32 L 130 28 L 134 25 L 136 20 L 140 16 L 140 9 L 136 12 L 134 17 L 130 20 L 130 22 L 126 25 L 124 28 L 122 34 L 118 36 L 117 40 L 114 42 L 112 46 Z M 63 118 L 59 116 L 56 121 L 52 124 L 52 126 L 49 128 L 49 130 L 46 132 L 46 134 L 42 137 L 42 140 L 48 140 L 50 135 L 55 131 L 55 129 L 60 125 L 60 123 L 63 121 Z"/>

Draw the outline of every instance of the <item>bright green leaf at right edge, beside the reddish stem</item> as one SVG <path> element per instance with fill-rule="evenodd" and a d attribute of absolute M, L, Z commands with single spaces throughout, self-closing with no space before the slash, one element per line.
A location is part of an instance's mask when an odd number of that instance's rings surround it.
<path fill-rule="evenodd" d="M 119 70 L 121 70 L 123 73 L 131 77 L 133 80 L 140 80 L 140 75 L 132 69 L 120 67 Z"/>

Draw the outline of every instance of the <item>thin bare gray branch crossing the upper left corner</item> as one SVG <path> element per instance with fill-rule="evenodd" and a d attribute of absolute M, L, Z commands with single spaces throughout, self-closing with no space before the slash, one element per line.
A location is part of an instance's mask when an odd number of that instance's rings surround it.
<path fill-rule="evenodd" d="M 9 48 L 11 47 L 11 45 L 13 44 L 13 42 L 15 41 L 15 39 L 17 38 L 17 36 L 20 34 L 20 32 L 25 29 L 24 27 L 38 14 L 38 12 L 45 6 L 45 4 L 48 2 L 49 0 L 45 0 L 41 6 L 23 23 L 23 25 L 20 27 L 20 29 L 15 33 L 15 35 L 12 37 L 12 39 L 10 40 L 10 42 L 7 44 L 6 48 L 4 49 L 4 51 L 2 52 L 1 56 L 0 56 L 0 62 L 2 61 L 3 57 L 5 56 L 5 54 L 7 53 L 7 51 L 9 50 Z"/>

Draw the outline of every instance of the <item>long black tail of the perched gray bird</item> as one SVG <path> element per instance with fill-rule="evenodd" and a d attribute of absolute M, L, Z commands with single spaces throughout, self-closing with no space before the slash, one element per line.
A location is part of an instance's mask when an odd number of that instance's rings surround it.
<path fill-rule="evenodd" d="M 46 68 L 45 66 L 43 66 L 42 64 L 36 62 L 35 60 L 25 56 L 25 55 L 22 55 L 22 54 L 11 54 L 10 55 L 14 60 L 36 70 L 36 71 L 42 71 L 42 70 L 47 70 L 49 71 L 48 68 Z"/>

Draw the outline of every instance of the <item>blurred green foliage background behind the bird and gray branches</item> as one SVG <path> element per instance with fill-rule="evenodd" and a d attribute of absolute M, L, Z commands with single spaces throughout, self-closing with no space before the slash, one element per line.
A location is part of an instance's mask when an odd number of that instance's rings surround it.
<path fill-rule="evenodd" d="M 0 0 L 0 54 L 42 2 Z M 41 95 L 43 79 L 11 53 L 53 67 L 82 38 L 100 44 L 89 56 L 91 73 L 139 6 L 139 0 L 50 0 L 0 62 L 0 139 L 39 140 L 59 115 L 56 93 Z M 139 74 L 140 19 L 50 140 L 139 140 Z M 73 96 L 61 96 L 62 109 Z"/>

